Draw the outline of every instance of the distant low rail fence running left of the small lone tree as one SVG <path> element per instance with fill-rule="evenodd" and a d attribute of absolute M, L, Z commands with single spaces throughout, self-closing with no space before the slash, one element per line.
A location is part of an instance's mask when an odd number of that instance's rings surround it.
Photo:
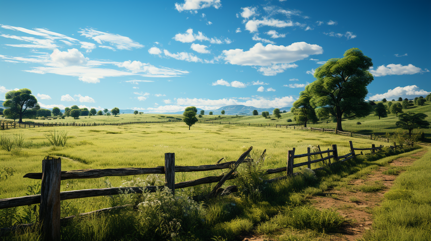
<path fill-rule="evenodd" d="M 168 123 L 172 121 L 133 121 L 133 122 L 121 122 L 121 123 L 68 123 L 68 122 L 24 122 L 19 123 L 15 121 L 2 121 L 0 123 L 1 130 L 7 130 L 12 128 L 35 128 L 35 127 L 94 127 L 94 126 L 121 126 L 128 124 L 146 124 L 146 123 Z"/>

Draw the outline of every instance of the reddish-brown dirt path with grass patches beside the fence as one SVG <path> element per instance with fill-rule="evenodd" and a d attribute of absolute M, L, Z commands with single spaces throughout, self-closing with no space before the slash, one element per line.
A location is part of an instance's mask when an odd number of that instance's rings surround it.
<path fill-rule="evenodd" d="M 412 156 L 416 158 L 421 157 L 426 151 L 419 151 Z M 398 158 L 390 163 L 389 167 L 406 167 L 412 164 L 417 159 L 410 157 Z M 364 179 L 355 179 L 349 183 L 350 191 L 346 188 L 337 190 L 328 190 L 325 193 L 328 195 L 336 195 L 339 200 L 315 196 L 312 198 L 312 203 L 317 208 L 334 208 L 344 217 L 351 219 L 352 225 L 340 234 L 331 235 L 331 240 L 335 241 L 354 241 L 362 237 L 365 230 L 372 228 L 372 214 L 371 210 L 379 206 L 383 199 L 383 195 L 393 185 L 397 176 L 384 175 L 382 172 L 389 169 L 389 167 L 380 167 L 378 170 L 373 170 Z M 386 187 L 381 191 L 376 192 L 361 192 L 355 186 L 359 185 L 372 185 L 379 182 Z M 353 191 L 353 192 L 352 192 Z M 357 201 L 351 200 L 356 198 Z"/>

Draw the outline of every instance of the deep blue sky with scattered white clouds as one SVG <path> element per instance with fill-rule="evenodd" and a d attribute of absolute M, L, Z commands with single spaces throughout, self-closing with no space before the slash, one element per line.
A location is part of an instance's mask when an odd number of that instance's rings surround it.
<path fill-rule="evenodd" d="M 0 99 L 181 111 L 291 106 L 312 72 L 356 47 L 367 99 L 431 91 L 429 1 L 2 1 Z"/>

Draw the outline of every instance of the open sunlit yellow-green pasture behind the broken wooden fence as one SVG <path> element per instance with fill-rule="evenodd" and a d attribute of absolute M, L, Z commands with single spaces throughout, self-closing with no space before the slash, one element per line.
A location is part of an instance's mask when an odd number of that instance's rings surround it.
<path fill-rule="evenodd" d="M 215 164 L 220 158 L 235 161 L 248 147 L 262 152 L 266 149 L 265 166 L 284 167 L 287 150 L 296 148 L 296 153 L 306 153 L 309 145 L 320 145 L 322 150 L 337 144 L 339 155 L 350 152 L 348 141 L 358 148 L 369 148 L 371 144 L 384 145 L 384 142 L 344 136 L 328 136 L 328 133 L 294 131 L 269 127 L 240 127 L 234 125 L 196 124 L 191 130 L 184 123 L 132 124 L 124 126 L 100 127 L 56 127 L 57 131 L 67 131 L 70 139 L 65 147 L 48 144 L 44 134 L 54 127 L 16 129 L 3 131 L 2 135 L 16 133 L 25 135 L 21 149 L 0 150 L 2 167 L 13 167 L 16 173 L 1 183 L 0 198 L 25 195 L 25 184 L 40 181 L 22 178 L 26 173 L 41 172 L 41 162 L 46 155 L 62 158 L 62 170 L 103 169 L 120 167 L 156 167 L 164 165 L 164 153 L 174 152 L 176 165 Z M 330 137 L 330 138 L 328 138 Z M 296 163 L 306 158 L 295 159 Z M 312 164 L 314 165 L 314 164 Z M 317 164 L 316 164 L 317 165 Z M 197 179 L 203 176 L 220 175 L 223 171 L 177 173 L 176 182 Z M 281 173 L 279 175 L 282 175 Z M 72 190 L 105 187 L 105 180 L 73 179 L 62 181 Z M 121 186 L 129 177 L 109 177 L 113 186 Z M 78 200 L 91 204 L 92 210 L 103 208 L 103 198 Z"/>

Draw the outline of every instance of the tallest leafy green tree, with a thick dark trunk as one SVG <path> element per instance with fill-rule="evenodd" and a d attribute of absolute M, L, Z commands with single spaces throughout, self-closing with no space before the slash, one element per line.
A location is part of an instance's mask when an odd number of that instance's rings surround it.
<path fill-rule="evenodd" d="M 367 86 L 374 80 L 368 71 L 372 59 L 357 48 L 348 49 L 343 58 L 329 59 L 315 70 L 316 80 L 309 84 L 313 107 L 328 108 L 337 119 L 337 130 L 343 131 L 341 121 L 365 117 L 371 108 L 365 102 Z"/>

